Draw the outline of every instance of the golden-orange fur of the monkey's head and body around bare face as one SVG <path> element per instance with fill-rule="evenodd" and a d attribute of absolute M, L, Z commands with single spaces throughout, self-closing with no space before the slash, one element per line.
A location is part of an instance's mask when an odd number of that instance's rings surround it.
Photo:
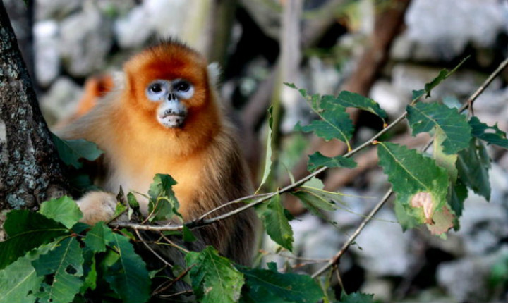
<path fill-rule="evenodd" d="M 167 173 L 178 182 L 174 192 L 186 221 L 251 192 L 234 130 L 222 114 L 214 80 L 200 54 L 179 42 L 162 42 L 131 58 L 124 73 L 124 83 L 115 85 L 113 92 L 61 134 L 90 140 L 104 150 L 107 173 L 97 178 L 104 190 L 118 192 L 121 186 L 147 192 L 156 173 Z M 145 95 L 150 82 L 156 79 L 184 79 L 194 87 L 193 96 L 182 101 L 188 113 L 179 128 L 159 123 L 159 102 Z M 94 209 L 102 203 L 101 198 L 92 200 L 86 203 Z M 146 212 L 147 202 L 142 203 Z M 236 207 L 226 207 L 214 216 Z M 95 223 L 93 217 L 88 218 L 89 223 Z M 248 264 L 255 243 L 255 221 L 252 210 L 244 211 L 200 228 L 198 233 L 205 244 Z"/>

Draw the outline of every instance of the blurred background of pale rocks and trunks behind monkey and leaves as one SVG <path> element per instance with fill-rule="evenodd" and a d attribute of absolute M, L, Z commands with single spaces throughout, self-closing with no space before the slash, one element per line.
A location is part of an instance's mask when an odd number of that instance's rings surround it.
<path fill-rule="evenodd" d="M 121 70 L 147 45 L 179 37 L 222 66 L 224 107 L 240 130 L 253 178 L 262 174 L 267 109 L 274 106 L 274 176 L 265 190 L 308 173 L 308 154 L 344 152 L 344 144 L 293 132 L 315 118 L 283 82 L 310 93 L 342 89 L 373 98 L 397 118 L 413 89 L 442 68 L 468 61 L 433 91 L 432 100 L 464 102 L 508 55 L 507 0 L 4 0 L 50 125 L 71 116 L 90 77 Z M 508 70 L 476 101 L 475 114 L 508 130 Z M 353 144 L 382 129 L 368 113 L 351 111 Z M 399 125 L 384 137 L 410 147 L 428 138 Z M 488 147 L 490 202 L 473 192 L 459 231 L 447 240 L 418 228 L 403 233 L 387 204 L 342 256 L 346 292 L 379 302 L 508 302 L 508 154 Z M 353 233 L 389 188 L 375 149 L 356 156 L 358 168 L 320 175 L 327 190 L 346 194 L 330 225 L 295 199 L 294 252 L 264 241 L 263 259 L 286 271 L 313 273 Z M 337 293 L 337 276 L 332 285 Z"/>

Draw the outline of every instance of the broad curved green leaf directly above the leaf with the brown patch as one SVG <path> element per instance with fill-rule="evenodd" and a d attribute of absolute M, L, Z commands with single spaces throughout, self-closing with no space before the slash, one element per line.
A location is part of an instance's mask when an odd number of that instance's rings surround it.
<path fill-rule="evenodd" d="M 443 152 L 446 154 L 456 154 L 468 147 L 471 126 L 467 123 L 466 116 L 461 115 L 456 109 L 436 102 L 420 102 L 414 106 L 408 105 L 406 111 L 413 135 L 430 132 L 433 129 L 442 131 Z"/>

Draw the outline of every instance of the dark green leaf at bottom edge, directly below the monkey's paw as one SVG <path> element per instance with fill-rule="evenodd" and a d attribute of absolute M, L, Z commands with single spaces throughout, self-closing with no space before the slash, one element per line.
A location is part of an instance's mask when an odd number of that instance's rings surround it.
<path fill-rule="evenodd" d="M 112 233 L 109 245 L 117 254 L 104 278 L 124 303 L 143 303 L 150 298 L 150 276 L 143 259 L 134 252 L 128 237 Z"/>

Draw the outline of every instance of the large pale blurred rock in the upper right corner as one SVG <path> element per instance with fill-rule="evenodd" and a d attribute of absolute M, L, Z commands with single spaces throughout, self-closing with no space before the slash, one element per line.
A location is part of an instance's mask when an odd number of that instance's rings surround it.
<path fill-rule="evenodd" d="M 508 32 L 508 7 L 497 0 L 415 0 L 406 14 L 407 30 L 392 47 L 392 57 L 446 61 L 468 43 L 489 48 Z"/>

